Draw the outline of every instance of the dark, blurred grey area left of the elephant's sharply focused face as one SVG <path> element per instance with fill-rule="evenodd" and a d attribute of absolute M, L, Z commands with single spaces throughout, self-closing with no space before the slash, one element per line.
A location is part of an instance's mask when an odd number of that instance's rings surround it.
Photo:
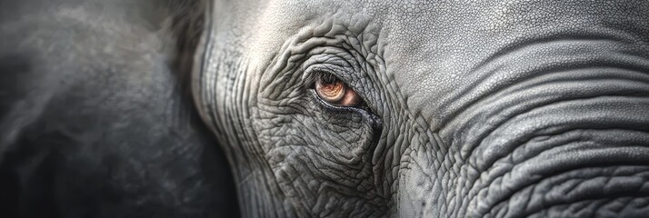
<path fill-rule="evenodd" d="M 236 213 L 187 85 L 205 1 L 0 2 L 3 217 Z"/>

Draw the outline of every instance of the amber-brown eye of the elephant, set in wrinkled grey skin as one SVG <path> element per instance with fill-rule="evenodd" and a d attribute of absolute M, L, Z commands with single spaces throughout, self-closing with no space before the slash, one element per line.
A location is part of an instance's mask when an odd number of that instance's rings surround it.
<path fill-rule="evenodd" d="M 322 100 L 336 106 L 358 106 L 363 102 L 352 88 L 333 74 L 319 74 L 315 81 L 315 92 Z"/>

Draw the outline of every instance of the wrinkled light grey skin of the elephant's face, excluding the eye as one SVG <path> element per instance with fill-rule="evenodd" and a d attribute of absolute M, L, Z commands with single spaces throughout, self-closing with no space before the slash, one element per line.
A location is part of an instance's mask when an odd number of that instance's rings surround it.
<path fill-rule="evenodd" d="M 649 2 L 215 1 L 195 104 L 245 217 L 644 217 Z M 366 106 L 314 90 L 333 74 Z"/>

